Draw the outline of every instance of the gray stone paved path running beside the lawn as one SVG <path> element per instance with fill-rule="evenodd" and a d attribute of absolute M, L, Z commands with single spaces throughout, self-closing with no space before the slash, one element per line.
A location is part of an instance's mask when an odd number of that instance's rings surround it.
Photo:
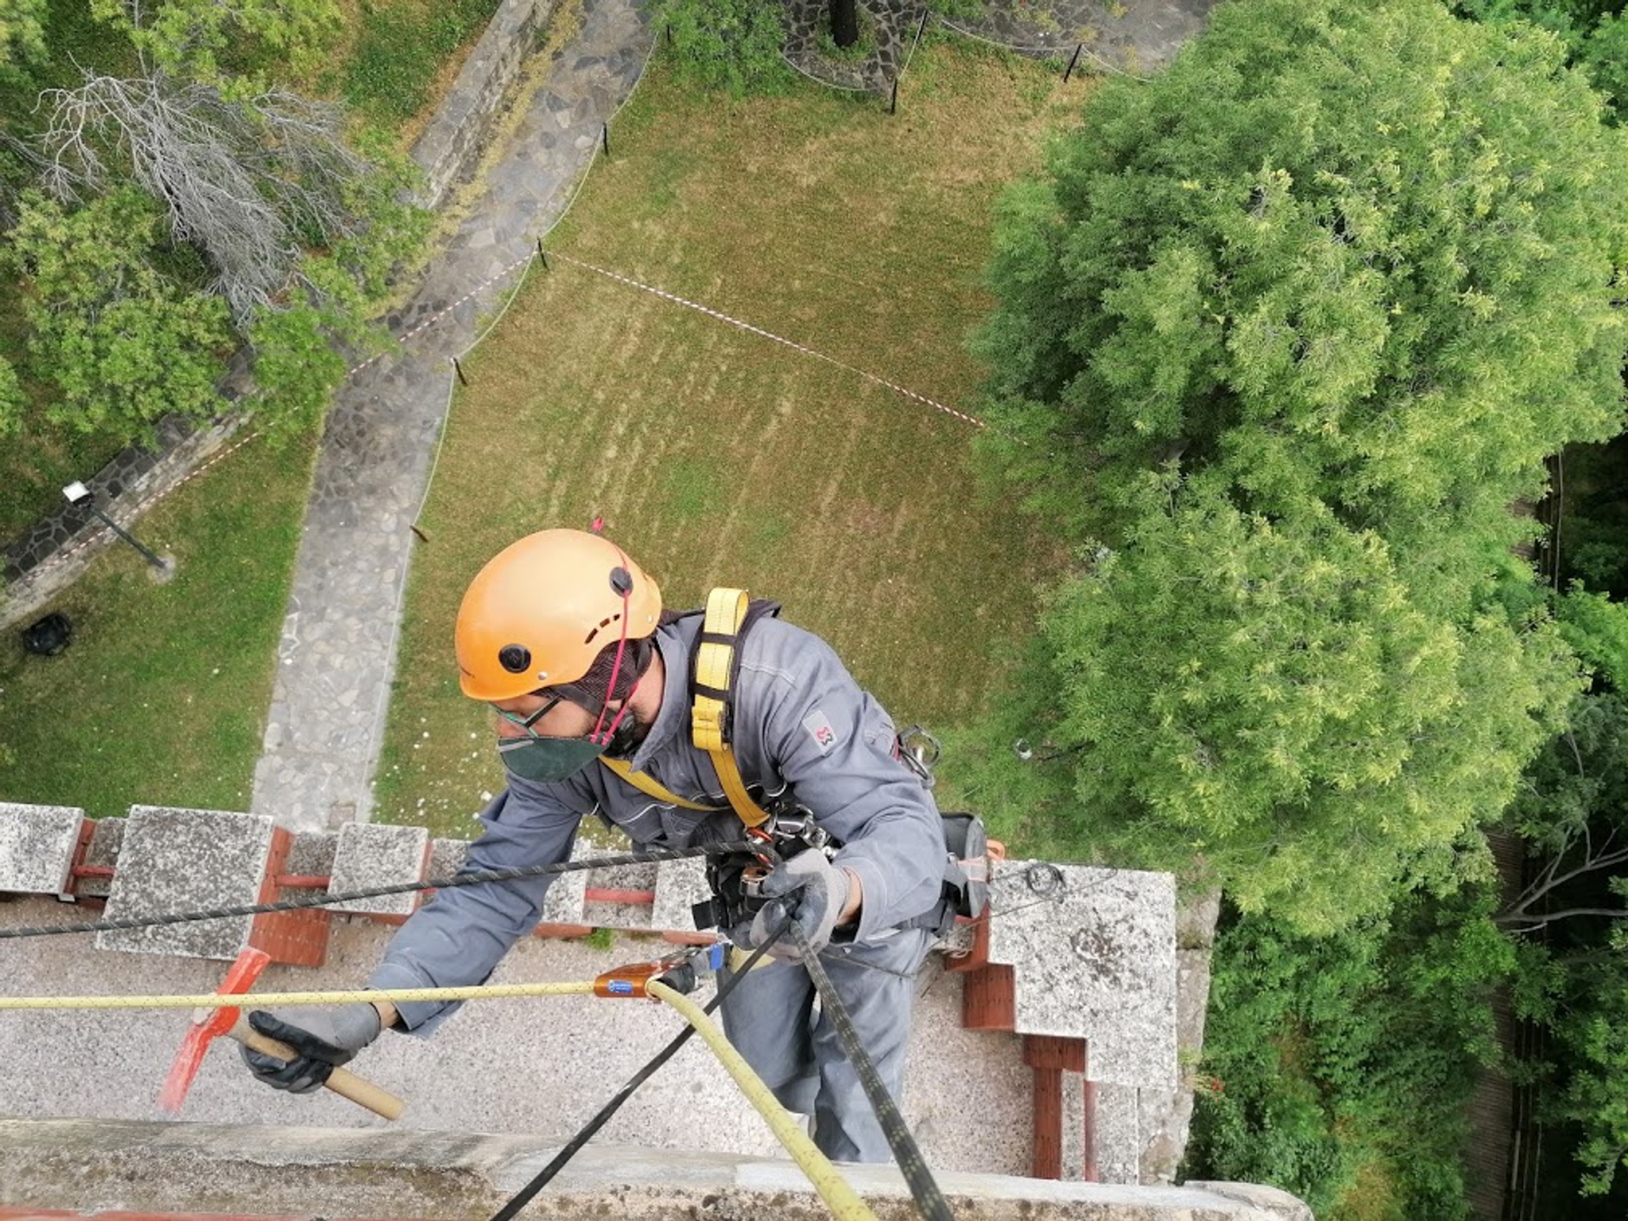
<path fill-rule="evenodd" d="M 584 0 L 581 31 L 555 54 L 469 218 L 389 324 L 407 335 L 456 308 L 340 389 L 306 508 L 252 812 L 293 830 L 368 819 L 410 526 L 446 415 L 449 358 L 475 339 L 477 321 L 519 269 L 485 282 L 524 260 L 565 208 L 596 155 L 601 124 L 638 81 L 648 50 L 635 0 Z"/>

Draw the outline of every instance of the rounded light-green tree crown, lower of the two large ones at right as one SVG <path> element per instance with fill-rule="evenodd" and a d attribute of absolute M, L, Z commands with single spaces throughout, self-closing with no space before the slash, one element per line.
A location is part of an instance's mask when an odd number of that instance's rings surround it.
<path fill-rule="evenodd" d="M 1073 843 L 1197 856 L 1309 931 L 1382 912 L 1405 874 L 1451 882 L 1574 690 L 1553 625 L 1431 614 L 1327 511 L 1247 514 L 1213 477 L 1154 495 L 1044 614 L 1057 711 L 1029 734 Z"/>

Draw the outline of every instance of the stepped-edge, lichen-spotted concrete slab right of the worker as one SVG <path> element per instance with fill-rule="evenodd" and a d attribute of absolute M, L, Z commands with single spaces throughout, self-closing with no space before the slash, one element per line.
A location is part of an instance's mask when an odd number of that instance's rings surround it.
<path fill-rule="evenodd" d="M 1013 967 L 1021 1034 L 1091 1042 L 1092 1081 L 1175 1081 L 1171 874 L 1003 861 L 990 962 Z"/>

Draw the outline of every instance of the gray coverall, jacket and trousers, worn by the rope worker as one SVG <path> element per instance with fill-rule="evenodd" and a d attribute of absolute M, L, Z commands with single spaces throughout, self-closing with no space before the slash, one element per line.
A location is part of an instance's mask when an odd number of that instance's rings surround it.
<path fill-rule="evenodd" d="M 666 666 L 661 711 L 632 767 L 676 796 L 724 807 L 677 809 L 593 764 L 560 783 L 510 777 L 482 812 L 467 869 L 563 861 L 578 822 L 597 812 L 635 845 L 689 847 L 741 838 L 741 824 L 705 752 L 690 742 L 690 651 L 702 617 L 656 632 Z M 944 834 L 933 798 L 894 757 L 887 713 L 860 690 L 832 648 L 778 619 L 757 620 L 734 684 L 733 749 L 742 780 L 765 794 L 790 788 L 842 843 L 835 861 L 864 889 L 851 943 L 821 954 L 860 1039 L 897 1101 L 904 1086 L 913 977 L 933 934 L 900 928 L 939 900 Z M 368 985 L 484 982 L 537 923 L 550 877 L 440 892 L 391 939 Z M 428 1034 L 456 1004 L 397 1006 L 400 1027 Z M 840 1161 L 887 1161 L 889 1149 L 835 1031 L 814 1013 L 807 972 L 794 962 L 754 970 L 723 1004 L 724 1031 L 788 1110 L 814 1115 L 814 1143 Z"/>

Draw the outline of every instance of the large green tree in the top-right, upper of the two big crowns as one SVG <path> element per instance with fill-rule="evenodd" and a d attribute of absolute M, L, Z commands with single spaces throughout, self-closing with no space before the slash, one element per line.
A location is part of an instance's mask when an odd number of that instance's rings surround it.
<path fill-rule="evenodd" d="M 1540 488 L 1620 430 L 1628 347 L 1628 143 L 1563 62 L 1429 0 L 1260 0 L 1109 81 L 1003 204 L 991 448 L 1081 532 L 1171 456 L 1394 542 Z"/>

